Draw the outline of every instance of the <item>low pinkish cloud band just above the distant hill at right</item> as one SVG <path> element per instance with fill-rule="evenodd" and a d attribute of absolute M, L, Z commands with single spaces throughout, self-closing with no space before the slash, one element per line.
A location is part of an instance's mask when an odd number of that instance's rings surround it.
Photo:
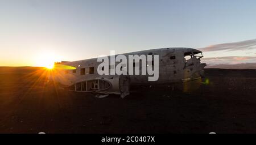
<path fill-rule="evenodd" d="M 217 64 L 238 64 L 238 63 L 256 63 L 256 57 L 254 56 L 230 56 L 230 57 L 208 57 L 201 58 L 202 62 L 207 63 L 207 65 L 217 65 Z"/>

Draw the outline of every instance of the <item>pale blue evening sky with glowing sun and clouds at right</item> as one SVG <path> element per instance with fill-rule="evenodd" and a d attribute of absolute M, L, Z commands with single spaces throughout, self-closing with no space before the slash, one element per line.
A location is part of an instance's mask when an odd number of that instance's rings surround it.
<path fill-rule="evenodd" d="M 256 63 L 256 1 L 0 0 L 0 66 L 41 66 L 188 47 L 204 62 Z"/>

